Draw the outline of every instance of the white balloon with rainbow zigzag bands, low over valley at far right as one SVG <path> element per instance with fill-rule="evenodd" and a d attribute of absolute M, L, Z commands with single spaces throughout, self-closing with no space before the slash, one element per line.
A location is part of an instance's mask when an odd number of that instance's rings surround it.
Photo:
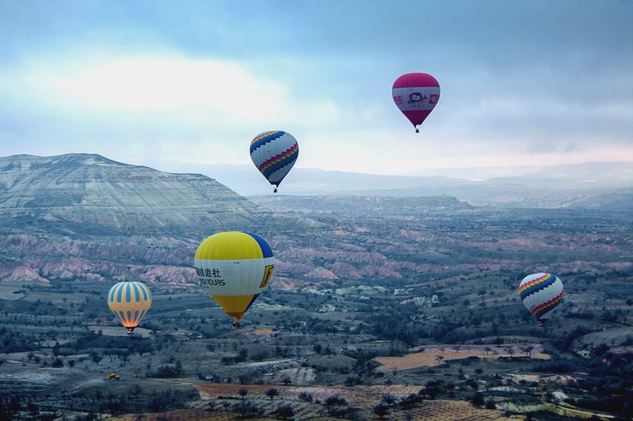
<path fill-rule="evenodd" d="M 519 294 L 523 305 L 544 327 L 545 320 L 563 299 L 563 282 L 551 273 L 533 273 L 523 278 Z"/>

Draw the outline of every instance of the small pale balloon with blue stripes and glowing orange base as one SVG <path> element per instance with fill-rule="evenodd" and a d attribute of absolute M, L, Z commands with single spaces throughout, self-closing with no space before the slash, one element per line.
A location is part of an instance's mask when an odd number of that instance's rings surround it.
<path fill-rule="evenodd" d="M 128 334 L 134 332 L 152 305 L 152 294 L 141 282 L 119 282 L 108 291 L 108 307 Z"/>

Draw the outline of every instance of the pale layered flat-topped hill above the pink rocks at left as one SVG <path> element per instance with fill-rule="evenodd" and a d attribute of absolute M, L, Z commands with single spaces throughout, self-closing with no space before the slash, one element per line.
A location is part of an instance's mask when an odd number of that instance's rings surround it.
<path fill-rule="evenodd" d="M 0 225 L 94 232 L 236 228 L 257 206 L 209 177 L 170 174 L 90 154 L 0 158 Z"/>

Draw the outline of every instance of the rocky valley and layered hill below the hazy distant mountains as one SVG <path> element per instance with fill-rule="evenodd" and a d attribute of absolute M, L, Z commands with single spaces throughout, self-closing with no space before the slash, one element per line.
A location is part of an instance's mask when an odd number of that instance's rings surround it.
<path fill-rule="evenodd" d="M 0 180 L 1 417 L 631 414 L 630 209 L 247 200 L 82 154 L 0 158 Z M 191 268 L 222 230 L 276 259 L 237 332 Z M 566 291 L 546 330 L 516 294 L 542 270 Z M 154 296 L 132 338 L 105 301 L 123 279 Z"/>

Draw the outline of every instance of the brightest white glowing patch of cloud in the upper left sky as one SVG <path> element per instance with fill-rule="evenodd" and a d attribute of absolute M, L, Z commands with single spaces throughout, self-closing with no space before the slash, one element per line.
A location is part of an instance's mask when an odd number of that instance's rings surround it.
<path fill-rule="evenodd" d="M 71 63 L 63 72 L 37 77 L 41 92 L 70 106 L 101 111 L 219 113 L 224 118 L 266 121 L 286 115 L 286 87 L 227 61 L 182 57 L 122 57 Z M 35 70 L 41 72 L 41 69 Z"/>

